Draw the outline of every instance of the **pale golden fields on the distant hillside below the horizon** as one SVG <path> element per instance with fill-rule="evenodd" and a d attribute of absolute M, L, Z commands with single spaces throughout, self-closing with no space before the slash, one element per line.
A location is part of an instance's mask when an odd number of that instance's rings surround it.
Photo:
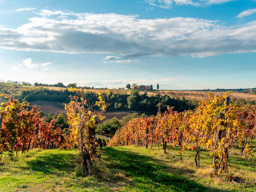
<path fill-rule="evenodd" d="M 26 88 L 35 88 L 34 86 L 28 86 L 28 85 L 16 85 L 16 84 L 3 84 L 0 83 L 0 92 L 3 93 L 3 90 L 5 90 L 6 93 L 18 93 L 23 89 Z M 47 87 L 49 90 L 65 90 L 66 88 L 61 87 Z M 105 89 L 87 89 L 88 92 L 98 93 L 102 92 L 104 93 Z M 111 92 L 114 94 L 131 94 L 132 90 L 125 90 L 125 89 L 110 89 Z M 145 90 L 139 90 L 140 94 L 143 94 Z M 173 97 L 184 97 L 185 99 L 196 99 L 196 100 L 204 100 L 208 99 L 208 92 L 202 92 L 202 91 L 177 91 L 177 90 L 152 90 L 147 91 L 147 95 L 151 96 L 154 94 L 160 93 L 161 95 L 169 95 L 171 98 Z M 213 92 L 214 95 L 221 96 L 224 94 L 224 92 Z M 256 94 L 252 93 L 237 93 L 233 92 L 230 93 L 231 100 L 232 98 L 241 98 L 245 100 L 256 100 Z"/>

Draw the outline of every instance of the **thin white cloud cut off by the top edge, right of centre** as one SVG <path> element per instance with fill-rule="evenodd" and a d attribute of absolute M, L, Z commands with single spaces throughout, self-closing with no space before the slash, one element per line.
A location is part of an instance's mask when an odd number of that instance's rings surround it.
<path fill-rule="evenodd" d="M 171 9 L 175 5 L 209 6 L 213 4 L 223 4 L 234 0 L 145 0 L 151 6 Z M 149 10 L 149 9 L 147 9 Z"/>

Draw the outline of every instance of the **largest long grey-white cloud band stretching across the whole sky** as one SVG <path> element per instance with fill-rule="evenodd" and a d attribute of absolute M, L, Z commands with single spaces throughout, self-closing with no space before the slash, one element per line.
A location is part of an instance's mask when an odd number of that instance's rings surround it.
<path fill-rule="evenodd" d="M 119 54 L 121 61 L 141 56 L 256 52 L 256 20 L 225 26 L 220 21 L 183 17 L 139 19 L 137 15 L 50 10 L 38 14 L 16 29 L 0 27 L 0 48 Z"/>

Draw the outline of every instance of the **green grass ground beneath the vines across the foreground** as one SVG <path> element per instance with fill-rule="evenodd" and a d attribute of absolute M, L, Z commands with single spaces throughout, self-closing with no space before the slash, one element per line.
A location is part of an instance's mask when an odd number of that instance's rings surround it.
<path fill-rule="evenodd" d="M 0 165 L 0 191 L 255 191 L 252 185 L 234 185 L 212 173 L 212 157 L 201 151 L 201 168 L 194 164 L 195 151 L 177 149 L 167 154 L 153 146 L 103 147 L 101 162 L 91 167 L 91 177 L 82 178 L 81 156 L 75 149 L 19 152 L 10 161 L 7 154 Z M 229 168 L 248 181 L 256 180 L 256 164 L 242 160 L 238 149 L 230 153 Z M 247 178 L 246 178 L 247 176 Z"/>

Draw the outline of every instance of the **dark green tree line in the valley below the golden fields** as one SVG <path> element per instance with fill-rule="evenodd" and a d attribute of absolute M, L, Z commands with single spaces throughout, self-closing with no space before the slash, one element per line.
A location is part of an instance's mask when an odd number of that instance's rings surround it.
<path fill-rule="evenodd" d="M 12 97 L 19 101 L 31 102 L 36 100 L 58 101 L 68 103 L 76 92 L 69 92 L 64 90 L 50 90 L 46 87 L 40 86 L 37 88 L 27 88 L 18 93 L 13 93 Z M 90 102 L 98 101 L 97 93 L 92 91 L 85 91 L 85 96 Z M 121 111 L 137 111 L 147 115 L 156 115 L 158 112 L 158 103 L 160 101 L 161 110 L 165 111 L 167 106 L 173 106 L 174 110 L 182 112 L 184 110 L 194 110 L 198 107 L 198 100 L 186 100 L 184 97 L 173 97 L 168 95 L 161 95 L 157 93 L 152 96 L 147 95 L 147 91 L 140 94 L 138 90 L 132 90 L 131 94 L 110 94 L 106 98 L 106 102 L 110 103 L 107 110 L 121 110 Z"/>

